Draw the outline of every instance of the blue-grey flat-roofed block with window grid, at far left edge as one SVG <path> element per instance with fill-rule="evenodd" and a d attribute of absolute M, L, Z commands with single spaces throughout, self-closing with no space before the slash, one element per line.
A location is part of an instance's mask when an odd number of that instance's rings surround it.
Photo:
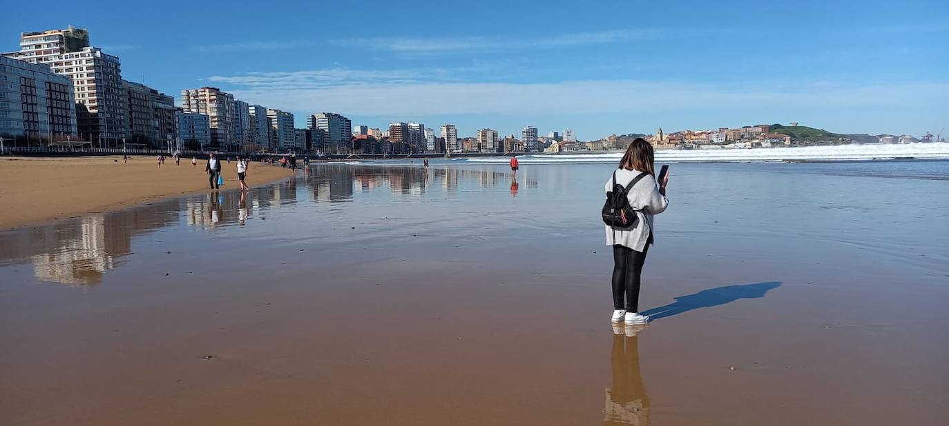
<path fill-rule="evenodd" d="M 0 137 L 78 135 L 72 90 L 45 63 L 0 57 Z"/>

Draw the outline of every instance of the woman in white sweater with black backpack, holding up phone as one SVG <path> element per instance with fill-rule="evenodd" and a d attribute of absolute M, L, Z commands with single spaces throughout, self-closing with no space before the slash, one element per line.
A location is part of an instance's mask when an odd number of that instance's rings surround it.
<path fill-rule="evenodd" d="M 637 137 L 623 154 L 619 169 L 606 181 L 607 200 L 616 189 L 621 189 L 615 186 L 623 186 L 621 190 L 634 211 L 626 226 L 606 225 L 606 245 L 613 246 L 614 323 L 635 325 L 649 321 L 649 317 L 639 313 L 642 265 L 653 243 L 653 215 L 662 213 L 669 205 L 665 197 L 669 175 L 666 173 L 662 182 L 657 182 L 654 163 L 652 145 Z"/>

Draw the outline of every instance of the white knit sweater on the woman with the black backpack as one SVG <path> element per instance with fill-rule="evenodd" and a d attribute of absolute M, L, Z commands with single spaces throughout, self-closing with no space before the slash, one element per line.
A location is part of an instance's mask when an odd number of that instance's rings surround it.
<path fill-rule="evenodd" d="M 616 183 L 626 186 L 640 173 L 639 170 L 618 169 L 616 170 Z M 612 174 L 606 180 L 604 188 L 605 192 L 613 189 Z M 653 233 L 653 215 L 665 211 L 665 207 L 669 205 L 669 199 L 661 194 L 659 184 L 651 176 L 643 177 L 640 182 L 631 187 L 627 199 L 629 205 L 633 208 L 642 210 L 636 213 L 639 220 L 634 222 L 632 226 L 624 228 L 605 225 L 606 245 L 620 244 L 623 247 L 642 252 L 649 240 L 649 234 Z M 653 240 L 656 240 L 655 233 L 653 233 Z"/>

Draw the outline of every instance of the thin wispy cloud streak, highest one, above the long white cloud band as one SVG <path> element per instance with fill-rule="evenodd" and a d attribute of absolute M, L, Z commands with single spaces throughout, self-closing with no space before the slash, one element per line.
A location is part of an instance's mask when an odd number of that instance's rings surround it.
<path fill-rule="evenodd" d="M 609 31 L 557 34 L 539 38 L 512 37 L 374 37 L 331 40 L 330 44 L 363 47 L 373 50 L 407 54 L 451 52 L 553 49 L 589 44 L 610 44 L 635 40 L 655 40 L 667 36 L 663 29 L 617 29 Z"/>

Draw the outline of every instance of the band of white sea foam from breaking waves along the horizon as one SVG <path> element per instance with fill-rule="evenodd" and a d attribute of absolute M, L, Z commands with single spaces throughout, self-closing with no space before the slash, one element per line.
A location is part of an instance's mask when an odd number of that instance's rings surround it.
<path fill-rule="evenodd" d="M 521 163 L 613 163 L 623 156 L 613 153 L 569 153 L 522 155 Z M 656 161 L 661 162 L 766 162 L 785 160 L 884 160 L 893 158 L 949 159 L 949 143 L 865 144 L 824 147 L 755 148 L 751 150 L 661 150 Z M 507 157 L 466 158 L 471 163 L 507 163 Z"/>

